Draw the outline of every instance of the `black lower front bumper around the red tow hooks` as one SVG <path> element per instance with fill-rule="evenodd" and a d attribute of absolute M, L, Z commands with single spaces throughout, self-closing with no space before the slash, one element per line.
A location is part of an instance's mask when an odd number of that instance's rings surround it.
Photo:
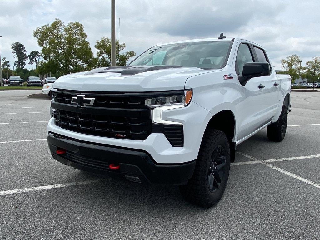
<path fill-rule="evenodd" d="M 48 145 L 54 159 L 65 165 L 113 178 L 145 184 L 186 184 L 191 178 L 196 161 L 184 164 L 157 164 L 146 151 L 111 145 L 83 142 L 53 133 Z M 59 149 L 66 150 L 57 154 Z M 110 169 L 110 164 L 120 165 Z"/>

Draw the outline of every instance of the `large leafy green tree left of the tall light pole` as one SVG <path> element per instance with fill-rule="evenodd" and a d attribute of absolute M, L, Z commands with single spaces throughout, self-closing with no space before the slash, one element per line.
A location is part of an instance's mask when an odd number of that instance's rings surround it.
<path fill-rule="evenodd" d="M 33 36 L 42 47 L 44 59 L 57 63 L 62 74 L 87 70 L 92 62 L 88 36 L 79 22 L 69 22 L 65 26 L 60 19 L 55 19 L 50 25 L 37 27 Z"/>

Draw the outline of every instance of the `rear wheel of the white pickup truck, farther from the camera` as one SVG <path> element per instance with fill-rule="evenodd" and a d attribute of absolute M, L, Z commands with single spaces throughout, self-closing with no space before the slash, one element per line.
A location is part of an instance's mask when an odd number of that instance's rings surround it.
<path fill-rule="evenodd" d="M 288 109 L 283 105 L 279 119 L 267 127 L 268 139 L 273 142 L 281 142 L 287 131 L 287 123 Z"/>

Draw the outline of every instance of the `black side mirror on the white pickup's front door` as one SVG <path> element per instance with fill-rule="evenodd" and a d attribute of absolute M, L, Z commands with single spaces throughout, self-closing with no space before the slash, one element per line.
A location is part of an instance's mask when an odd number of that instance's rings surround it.
<path fill-rule="evenodd" d="M 270 72 L 270 65 L 267 62 L 245 63 L 239 82 L 244 86 L 250 78 L 268 76 Z"/>

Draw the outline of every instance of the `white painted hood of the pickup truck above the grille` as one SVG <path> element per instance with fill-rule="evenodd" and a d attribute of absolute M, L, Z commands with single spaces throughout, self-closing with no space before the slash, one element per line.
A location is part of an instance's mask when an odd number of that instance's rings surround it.
<path fill-rule="evenodd" d="M 102 72 L 101 71 L 94 69 L 89 72 L 61 76 L 53 83 L 53 88 L 100 92 L 179 90 L 184 89 L 186 80 L 189 77 L 221 70 L 204 70 L 197 67 L 177 67 L 148 70 L 143 72 L 140 71 L 137 74 L 134 74 L 134 72 L 132 73 L 131 71 L 132 75 L 126 75 L 128 74 L 128 70 L 126 70 L 126 73 L 124 73 L 124 71 L 116 71 L 116 69 L 108 70 L 107 72 L 105 70 Z"/>

